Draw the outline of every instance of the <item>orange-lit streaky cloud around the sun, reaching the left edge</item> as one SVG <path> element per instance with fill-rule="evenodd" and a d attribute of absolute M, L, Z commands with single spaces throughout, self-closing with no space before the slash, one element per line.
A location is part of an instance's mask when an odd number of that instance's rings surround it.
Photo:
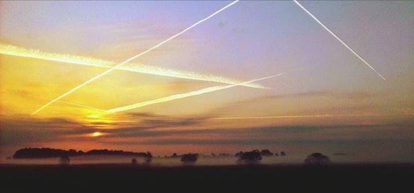
<path fill-rule="evenodd" d="M 28 115 L 3 116 L 0 143 L 1 146 L 13 146 L 66 139 L 81 140 L 97 130 L 111 134 L 112 137 L 134 136 L 139 132 L 141 134 L 137 135 L 144 136 L 148 134 L 144 130 L 196 126 L 208 120 L 208 117 L 169 117 L 149 113 L 119 113 L 112 116 L 112 122 L 85 122 L 61 117 L 37 118 Z M 101 124 L 110 128 L 103 129 Z"/>

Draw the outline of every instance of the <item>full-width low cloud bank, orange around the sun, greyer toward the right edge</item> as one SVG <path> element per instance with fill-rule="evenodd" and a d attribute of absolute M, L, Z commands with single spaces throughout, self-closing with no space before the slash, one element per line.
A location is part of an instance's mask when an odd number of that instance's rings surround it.
<path fill-rule="evenodd" d="M 152 113 L 117 113 L 112 122 L 84 122 L 66 118 L 37 118 L 26 115 L 1 117 L 1 146 L 85 141 L 119 145 L 166 144 L 306 144 L 376 143 L 381 140 L 414 140 L 411 119 L 388 124 L 331 124 L 253 126 L 247 128 L 211 127 L 211 116 L 171 117 Z M 106 117 L 103 117 L 105 119 Z M 110 125 L 101 128 L 100 124 Z M 101 137 L 88 137 L 100 131 Z"/>

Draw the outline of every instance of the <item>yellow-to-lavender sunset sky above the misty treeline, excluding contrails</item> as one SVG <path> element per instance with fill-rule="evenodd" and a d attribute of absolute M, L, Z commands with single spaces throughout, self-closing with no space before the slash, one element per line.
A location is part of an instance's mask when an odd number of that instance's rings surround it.
<path fill-rule="evenodd" d="M 114 66 L 230 2 L 0 1 L 1 49 Z M 283 75 L 254 82 L 261 88 L 105 113 L 97 109 L 229 85 L 115 69 L 30 115 L 108 68 L 0 54 L 0 156 L 25 147 L 155 155 L 266 148 L 414 161 L 414 3 L 300 3 L 386 81 L 293 1 L 239 1 L 126 66 L 239 82 Z"/>

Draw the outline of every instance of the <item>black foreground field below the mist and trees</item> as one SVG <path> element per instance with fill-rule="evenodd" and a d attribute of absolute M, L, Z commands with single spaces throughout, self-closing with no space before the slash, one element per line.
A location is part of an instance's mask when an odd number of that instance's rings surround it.
<path fill-rule="evenodd" d="M 257 192 L 259 190 L 408 190 L 414 165 L 181 166 L 131 165 L 16 166 L 0 165 L 0 192 Z M 408 188 L 408 189 L 406 189 Z M 289 192 L 290 192 L 289 191 Z M 400 191 L 397 191 L 400 192 Z"/>

